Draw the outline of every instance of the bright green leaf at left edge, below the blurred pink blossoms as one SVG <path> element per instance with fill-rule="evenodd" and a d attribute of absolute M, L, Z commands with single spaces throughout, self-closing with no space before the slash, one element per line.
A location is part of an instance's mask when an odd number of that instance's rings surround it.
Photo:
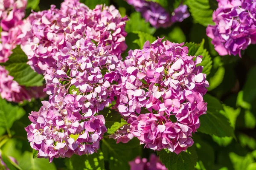
<path fill-rule="evenodd" d="M 13 123 L 25 114 L 23 108 L 13 106 L 11 103 L 0 98 L 0 127 L 7 130 L 9 136 Z"/>

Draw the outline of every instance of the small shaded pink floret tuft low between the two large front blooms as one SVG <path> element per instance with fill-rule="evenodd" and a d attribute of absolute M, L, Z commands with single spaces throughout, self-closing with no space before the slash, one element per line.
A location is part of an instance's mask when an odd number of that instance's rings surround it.
<path fill-rule="evenodd" d="M 130 125 L 123 125 L 115 133 L 111 134 L 109 138 L 116 140 L 116 143 L 127 143 L 133 139 L 133 134 L 130 133 Z"/>

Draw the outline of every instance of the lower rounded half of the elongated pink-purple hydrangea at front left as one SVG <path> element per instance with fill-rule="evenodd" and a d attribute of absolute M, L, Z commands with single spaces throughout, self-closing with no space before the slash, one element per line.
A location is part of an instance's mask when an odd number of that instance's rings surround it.
<path fill-rule="evenodd" d="M 74 153 L 94 153 L 107 130 L 104 117 L 82 118 L 74 96 L 58 99 L 60 102 L 55 105 L 43 101 L 40 110 L 29 116 L 32 124 L 25 129 L 31 147 L 38 150 L 39 158 L 49 158 L 50 162 L 53 158 L 70 157 Z"/>

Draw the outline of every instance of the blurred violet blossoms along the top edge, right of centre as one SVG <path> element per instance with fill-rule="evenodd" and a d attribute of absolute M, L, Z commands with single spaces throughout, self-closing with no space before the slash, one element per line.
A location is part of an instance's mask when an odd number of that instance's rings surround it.
<path fill-rule="evenodd" d="M 146 0 L 126 0 L 128 4 L 134 6 L 136 11 L 140 12 L 146 21 L 151 23 L 155 28 L 166 28 L 175 22 L 182 22 L 190 16 L 187 6 L 180 5 L 172 15 L 169 14 L 158 3 Z"/>

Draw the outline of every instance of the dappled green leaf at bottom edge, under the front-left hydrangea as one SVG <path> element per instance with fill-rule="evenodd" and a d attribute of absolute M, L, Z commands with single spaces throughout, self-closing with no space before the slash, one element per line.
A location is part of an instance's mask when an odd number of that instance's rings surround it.
<path fill-rule="evenodd" d="M 92 155 L 73 155 L 67 161 L 70 170 L 105 170 L 104 156 L 101 150 Z"/>

